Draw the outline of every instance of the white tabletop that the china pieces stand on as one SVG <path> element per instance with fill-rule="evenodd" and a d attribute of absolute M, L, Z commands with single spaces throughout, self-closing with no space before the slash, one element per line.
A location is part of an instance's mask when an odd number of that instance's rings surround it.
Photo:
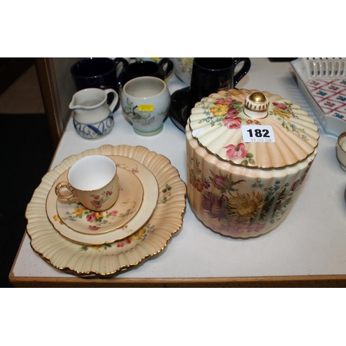
<path fill-rule="evenodd" d="M 188 200 L 183 227 L 170 239 L 167 248 L 130 270 L 118 273 L 114 280 L 179 279 L 188 282 L 213 278 L 312 277 L 337 275 L 346 279 L 346 203 L 344 191 L 346 172 L 336 158 L 336 136 L 327 134 L 304 99 L 295 82 L 289 62 L 269 62 L 267 58 L 251 58 L 251 70 L 238 88 L 258 89 L 288 98 L 314 118 L 319 127 L 319 151 L 300 189 L 291 212 L 271 233 L 253 239 L 222 237 L 203 226 L 190 209 Z M 170 92 L 185 87 L 172 75 L 167 85 Z M 141 145 L 170 159 L 187 183 L 185 134 L 168 118 L 160 134 L 138 136 L 122 114 L 114 113 L 114 127 L 109 136 L 100 140 L 84 140 L 76 134 L 70 119 L 57 148 L 51 168 L 64 158 L 102 145 Z M 341 275 L 341 276 L 339 276 Z M 76 276 L 59 271 L 30 248 L 28 235 L 19 248 L 10 273 L 13 284 L 21 280 L 50 278 L 68 282 Z M 80 278 L 79 280 L 86 279 Z"/>

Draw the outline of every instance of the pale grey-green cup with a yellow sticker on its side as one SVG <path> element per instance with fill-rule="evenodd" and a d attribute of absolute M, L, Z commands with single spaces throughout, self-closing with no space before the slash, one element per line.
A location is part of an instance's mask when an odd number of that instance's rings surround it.
<path fill-rule="evenodd" d="M 170 91 L 160 78 L 134 78 L 122 89 L 121 104 L 134 131 L 152 136 L 163 129 L 163 120 L 170 108 Z"/>

